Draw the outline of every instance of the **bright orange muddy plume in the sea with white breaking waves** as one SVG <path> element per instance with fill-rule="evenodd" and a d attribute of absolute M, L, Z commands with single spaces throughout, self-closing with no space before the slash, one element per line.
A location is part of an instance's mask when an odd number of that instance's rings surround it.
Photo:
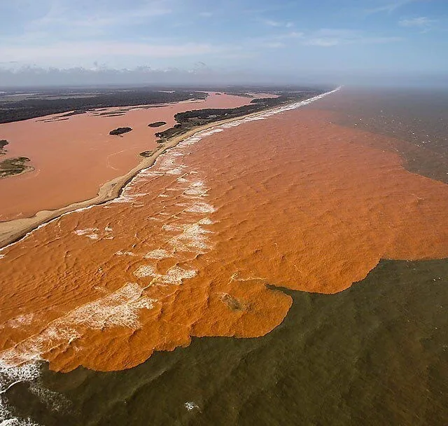
<path fill-rule="evenodd" d="M 380 259 L 448 256 L 448 186 L 331 121 L 295 110 L 186 139 L 117 200 L 4 249 L 1 361 L 127 369 L 191 336 L 269 333 L 292 303 L 274 287 L 333 294 Z"/>

